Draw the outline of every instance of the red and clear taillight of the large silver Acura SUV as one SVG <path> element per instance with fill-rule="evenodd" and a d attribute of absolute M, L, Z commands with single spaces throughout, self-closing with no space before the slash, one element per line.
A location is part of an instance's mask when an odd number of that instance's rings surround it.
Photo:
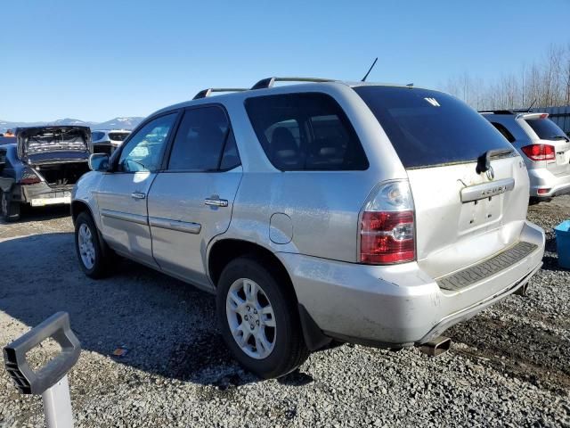
<path fill-rule="evenodd" d="M 413 201 L 407 181 L 377 186 L 360 218 L 362 263 L 384 265 L 416 259 Z"/>

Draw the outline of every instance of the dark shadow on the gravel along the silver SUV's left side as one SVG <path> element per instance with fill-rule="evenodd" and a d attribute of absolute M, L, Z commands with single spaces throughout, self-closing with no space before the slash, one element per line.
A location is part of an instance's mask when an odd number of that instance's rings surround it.
<path fill-rule="evenodd" d="M 69 312 L 84 350 L 151 374 L 222 391 L 259 381 L 225 347 L 212 295 L 122 258 L 114 275 L 92 280 L 73 240 L 57 233 L 0 243 L 0 310 L 29 327 Z M 124 356 L 114 357 L 119 348 Z"/>

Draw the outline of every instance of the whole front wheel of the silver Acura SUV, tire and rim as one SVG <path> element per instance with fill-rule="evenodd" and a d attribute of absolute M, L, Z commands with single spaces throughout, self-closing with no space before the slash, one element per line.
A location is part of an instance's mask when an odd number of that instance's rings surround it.
<path fill-rule="evenodd" d="M 102 240 L 93 218 L 82 212 L 75 221 L 75 249 L 79 266 L 86 276 L 102 278 L 110 272 L 110 251 Z"/>

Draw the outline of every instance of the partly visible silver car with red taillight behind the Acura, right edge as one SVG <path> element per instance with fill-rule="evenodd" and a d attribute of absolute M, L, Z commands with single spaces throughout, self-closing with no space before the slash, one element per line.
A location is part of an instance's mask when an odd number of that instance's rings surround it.
<path fill-rule="evenodd" d="M 548 201 L 570 193 L 570 138 L 548 113 L 503 110 L 482 114 L 525 160 L 532 198 Z"/>

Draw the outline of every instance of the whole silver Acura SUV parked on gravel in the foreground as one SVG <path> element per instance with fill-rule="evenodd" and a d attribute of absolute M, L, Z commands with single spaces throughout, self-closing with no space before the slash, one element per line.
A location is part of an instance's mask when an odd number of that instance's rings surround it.
<path fill-rule="evenodd" d="M 216 294 L 263 377 L 332 339 L 390 349 L 525 288 L 544 233 L 525 161 L 476 111 L 409 86 L 314 79 L 157 111 L 72 196 L 77 256 L 116 252 Z"/>

